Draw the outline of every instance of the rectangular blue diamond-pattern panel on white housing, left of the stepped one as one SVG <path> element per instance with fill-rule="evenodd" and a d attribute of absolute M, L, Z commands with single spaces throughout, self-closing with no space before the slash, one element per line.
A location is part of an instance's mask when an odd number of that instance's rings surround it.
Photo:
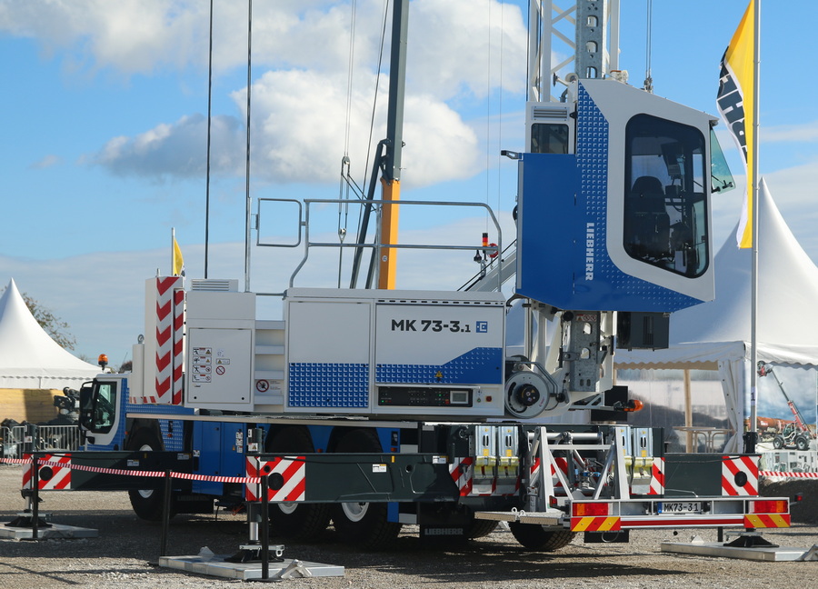
<path fill-rule="evenodd" d="M 289 367 L 291 407 L 369 406 L 369 366 L 294 362 Z"/>

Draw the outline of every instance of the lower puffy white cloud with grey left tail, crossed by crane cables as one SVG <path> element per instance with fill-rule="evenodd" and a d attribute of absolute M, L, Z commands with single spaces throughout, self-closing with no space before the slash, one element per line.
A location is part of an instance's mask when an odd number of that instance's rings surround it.
<path fill-rule="evenodd" d="M 251 96 L 251 165 L 254 178 L 278 184 L 336 182 L 344 155 L 346 96 L 336 79 L 304 71 L 267 72 Z M 371 135 L 369 84 L 353 93 L 350 156 L 356 177 L 368 173 L 366 142 Z M 233 95 L 243 112 L 246 94 Z M 214 117 L 212 170 L 244 174 L 244 117 Z M 385 97 L 376 111 L 374 141 L 385 127 Z M 206 119 L 185 116 L 173 125 L 156 125 L 135 137 L 115 137 L 87 161 L 115 174 L 201 176 L 205 171 Z M 430 185 L 473 175 L 479 169 L 477 137 L 460 115 L 430 95 L 408 95 L 404 112 L 406 185 Z M 371 162 L 370 162 L 371 163 Z"/>

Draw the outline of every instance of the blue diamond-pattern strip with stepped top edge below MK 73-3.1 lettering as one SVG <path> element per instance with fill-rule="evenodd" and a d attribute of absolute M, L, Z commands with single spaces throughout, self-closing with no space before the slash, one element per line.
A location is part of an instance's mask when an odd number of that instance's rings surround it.
<path fill-rule="evenodd" d="M 502 383 L 503 350 L 474 348 L 445 364 L 378 364 L 375 379 L 378 383 Z"/>

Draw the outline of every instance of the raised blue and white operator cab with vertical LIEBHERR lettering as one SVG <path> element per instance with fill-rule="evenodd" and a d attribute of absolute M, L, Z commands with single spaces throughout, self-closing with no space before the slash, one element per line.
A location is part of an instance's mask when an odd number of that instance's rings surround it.
<path fill-rule="evenodd" d="M 518 295 L 670 313 L 714 295 L 711 115 L 611 79 L 530 103 L 519 159 Z M 721 150 L 713 150 L 721 155 Z"/>

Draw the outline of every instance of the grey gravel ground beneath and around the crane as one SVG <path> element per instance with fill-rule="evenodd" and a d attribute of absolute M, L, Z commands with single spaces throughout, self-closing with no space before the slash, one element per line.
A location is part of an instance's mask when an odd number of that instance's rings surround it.
<path fill-rule="evenodd" d="M 25 507 L 19 487 L 22 467 L 0 464 L 0 522 Z M 130 509 L 127 494 L 46 492 L 41 509 L 58 524 L 95 528 L 97 538 L 40 542 L 0 539 L 0 587 L 130 588 L 221 587 L 241 581 L 183 574 L 155 565 L 161 526 L 145 523 Z M 793 510 L 793 514 L 795 514 Z M 416 529 L 404 528 L 397 548 L 362 554 L 339 544 L 329 530 L 322 544 L 287 544 L 284 556 L 342 565 L 343 577 L 297 578 L 294 587 L 320 589 L 469 589 L 503 587 L 741 587 L 786 589 L 813 586 L 818 562 L 762 563 L 663 554 L 663 541 L 688 541 L 698 534 L 714 542 L 714 530 L 642 530 L 630 544 L 583 544 L 574 540 L 551 553 L 525 551 L 508 532 L 498 530 L 469 544 L 447 549 L 422 546 Z M 777 544 L 807 549 L 818 544 L 818 527 L 796 521 L 793 527 L 764 534 Z M 181 515 L 171 522 L 168 553 L 198 554 L 207 546 L 215 554 L 234 554 L 247 541 L 244 516 Z M 813 581 L 810 581 L 813 579 Z"/>

